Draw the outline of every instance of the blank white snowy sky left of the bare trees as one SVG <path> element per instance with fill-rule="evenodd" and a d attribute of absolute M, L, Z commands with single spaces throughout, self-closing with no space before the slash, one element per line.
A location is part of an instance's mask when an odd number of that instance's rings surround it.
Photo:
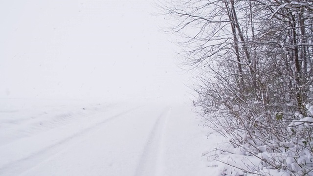
<path fill-rule="evenodd" d="M 0 0 L 0 97 L 182 96 L 149 0 Z"/>

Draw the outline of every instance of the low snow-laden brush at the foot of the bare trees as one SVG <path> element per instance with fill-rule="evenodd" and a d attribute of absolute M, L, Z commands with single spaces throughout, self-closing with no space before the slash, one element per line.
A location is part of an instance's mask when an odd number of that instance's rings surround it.
<path fill-rule="evenodd" d="M 211 85 L 202 89 L 206 94 L 195 105 L 204 110 L 209 127 L 232 145 L 227 159 L 215 158 L 228 165 L 222 174 L 313 176 L 313 106 L 308 104 L 305 113 L 289 108 L 291 104 L 274 111 L 225 95 L 221 83 L 207 83 Z"/>

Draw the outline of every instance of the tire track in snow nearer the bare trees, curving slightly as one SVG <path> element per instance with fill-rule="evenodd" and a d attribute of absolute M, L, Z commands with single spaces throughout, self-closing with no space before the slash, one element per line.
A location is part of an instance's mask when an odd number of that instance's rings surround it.
<path fill-rule="evenodd" d="M 162 138 L 165 135 L 167 118 L 171 108 L 166 108 L 157 118 L 148 140 L 139 159 L 134 176 L 163 176 L 164 144 Z"/>

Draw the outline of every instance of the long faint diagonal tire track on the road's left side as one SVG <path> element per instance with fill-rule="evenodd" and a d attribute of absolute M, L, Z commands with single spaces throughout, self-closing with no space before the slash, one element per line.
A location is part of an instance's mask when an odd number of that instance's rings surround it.
<path fill-rule="evenodd" d="M 48 160 L 49 158 L 53 157 L 53 155 L 59 153 L 64 149 L 63 144 L 67 144 L 72 142 L 74 139 L 78 138 L 79 136 L 88 133 L 92 130 L 96 130 L 101 125 L 106 124 L 112 120 L 115 120 L 119 117 L 121 117 L 124 114 L 127 114 L 131 111 L 140 109 L 141 107 L 136 107 L 130 110 L 125 110 L 123 112 L 120 112 L 116 115 L 113 115 L 110 118 L 107 118 L 101 122 L 98 122 L 90 127 L 87 127 L 79 132 L 76 132 L 50 146 L 45 147 L 44 149 L 37 151 L 33 154 L 30 154 L 26 157 L 23 157 L 19 160 L 13 161 L 11 163 L 5 164 L 3 166 L 0 166 L 0 176 L 17 176 L 21 175 L 23 172 L 37 166 L 41 162 Z M 22 146 L 21 146 L 22 147 Z"/>

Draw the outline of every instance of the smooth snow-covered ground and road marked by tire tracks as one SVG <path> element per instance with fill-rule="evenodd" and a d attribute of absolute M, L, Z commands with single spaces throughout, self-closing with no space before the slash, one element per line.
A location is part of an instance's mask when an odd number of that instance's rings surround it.
<path fill-rule="evenodd" d="M 199 122 L 160 99 L 0 99 L 0 176 L 215 176 Z"/>

